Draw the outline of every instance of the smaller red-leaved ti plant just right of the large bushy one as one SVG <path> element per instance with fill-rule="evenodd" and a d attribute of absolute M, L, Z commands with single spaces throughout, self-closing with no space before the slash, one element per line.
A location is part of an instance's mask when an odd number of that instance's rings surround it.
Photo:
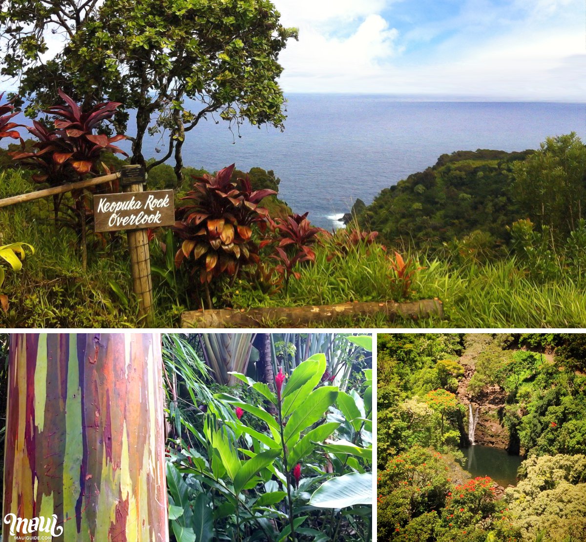
<path fill-rule="evenodd" d="M 286 218 L 269 220 L 272 235 L 261 242 L 261 247 L 276 243 L 275 252 L 270 258 L 277 260 L 277 273 L 285 276 L 285 293 L 289 286 L 289 279 L 294 276 L 297 280 L 301 273 L 295 270 L 298 263 L 315 262 L 315 252 L 312 248 L 319 242 L 319 235 L 329 235 L 323 228 L 316 228 L 307 219 L 308 213 L 288 215 Z"/>

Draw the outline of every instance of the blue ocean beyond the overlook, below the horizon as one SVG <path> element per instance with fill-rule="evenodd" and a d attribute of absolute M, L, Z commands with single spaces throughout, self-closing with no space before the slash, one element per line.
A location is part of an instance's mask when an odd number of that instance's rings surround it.
<path fill-rule="evenodd" d="M 201 121 L 183 146 L 185 164 L 216 171 L 272 169 L 280 197 L 331 229 L 356 198 L 432 166 L 456 150 L 536 149 L 548 136 L 586 136 L 586 104 L 421 101 L 382 95 L 288 95 L 285 131 Z M 145 156 L 165 148 L 147 140 Z"/>

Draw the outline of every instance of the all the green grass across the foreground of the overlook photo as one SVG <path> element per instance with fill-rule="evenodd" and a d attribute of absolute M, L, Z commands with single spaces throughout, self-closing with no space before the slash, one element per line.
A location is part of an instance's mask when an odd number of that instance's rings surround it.
<path fill-rule="evenodd" d="M 0 197 L 25 193 L 31 184 L 18 172 L 0 173 Z M 0 209 L 0 244 L 26 242 L 35 254 L 27 255 L 23 269 L 7 269 L 0 293 L 9 298 L 8 313 L 0 312 L 4 327 L 141 327 L 137 303 L 131 293 L 130 262 L 125 235 L 102 242 L 88 239 L 88 269 L 81 267 L 76 236 L 57 229 L 50 200 Z M 243 277 L 233 287 L 224 282 L 216 293 L 217 307 L 302 306 L 348 301 L 399 300 L 400 285 L 393 281 L 389 256 L 380 245 L 364 245 L 340 252 L 334 238 L 316 248 L 315 265 L 299 266 L 299 280 L 291 277 L 288 290 L 270 296 L 253 280 Z M 332 257 L 333 255 L 333 257 Z M 160 248 L 153 246 L 154 263 L 163 266 Z M 328 261 L 328 259 L 330 261 Z M 412 259 L 425 269 L 417 272 L 409 299 L 437 297 L 444 303 L 445 318 L 390 320 L 374 317 L 339 318 L 312 327 L 401 328 L 578 328 L 586 325 L 583 273 L 560 269 L 555 280 L 537 280 L 515 259 L 483 265 L 454 263 L 425 255 Z M 181 273 L 179 273 L 181 274 Z M 185 274 L 183 280 L 197 280 Z M 183 291 L 172 291 L 158 277 L 155 284 L 155 327 L 178 327 L 188 300 Z M 197 300 L 189 300 L 196 308 Z M 281 322 L 263 323 L 282 327 Z"/>

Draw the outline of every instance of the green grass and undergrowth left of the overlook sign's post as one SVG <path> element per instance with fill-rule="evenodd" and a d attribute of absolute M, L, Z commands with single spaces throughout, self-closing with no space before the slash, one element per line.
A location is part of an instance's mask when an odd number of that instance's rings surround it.
<path fill-rule="evenodd" d="M 0 197 L 22 194 L 31 186 L 18 171 L 0 173 Z M 2 243 L 22 241 L 27 253 L 21 272 L 6 270 L 2 293 L 9 310 L 0 311 L 4 327 L 140 327 L 137 304 L 130 293 L 130 262 L 125 238 L 103 245 L 88 239 L 88 267 L 81 267 L 76 235 L 57 228 L 52 200 L 46 198 L 0 209 Z M 113 256 L 114 255 L 114 256 Z M 120 287 L 122 297 L 110 283 Z"/>

